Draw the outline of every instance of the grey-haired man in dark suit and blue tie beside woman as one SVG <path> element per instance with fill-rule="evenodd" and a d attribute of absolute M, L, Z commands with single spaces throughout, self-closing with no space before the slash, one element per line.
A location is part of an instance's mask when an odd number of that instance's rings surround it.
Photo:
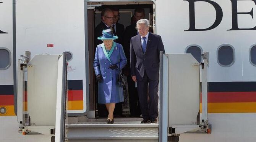
<path fill-rule="evenodd" d="M 139 35 L 131 38 L 131 76 L 138 85 L 141 123 L 156 123 L 158 117 L 159 52 L 164 51 L 161 36 L 149 33 L 149 21 L 141 19 L 136 28 Z M 165 52 L 165 51 L 164 51 Z M 149 102 L 147 100 L 149 88 Z"/>

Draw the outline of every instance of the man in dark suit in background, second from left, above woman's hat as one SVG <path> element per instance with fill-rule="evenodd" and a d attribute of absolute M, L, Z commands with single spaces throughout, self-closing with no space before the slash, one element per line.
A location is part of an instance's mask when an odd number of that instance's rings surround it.
<path fill-rule="evenodd" d="M 123 36 L 125 35 L 125 27 L 123 24 L 118 23 L 118 20 L 120 19 L 120 13 L 118 8 L 112 9 L 114 18 L 113 18 L 113 30 L 115 30 L 114 35 L 118 36 L 118 39 L 115 40 L 116 43 L 120 43 L 123 45 Z"/>

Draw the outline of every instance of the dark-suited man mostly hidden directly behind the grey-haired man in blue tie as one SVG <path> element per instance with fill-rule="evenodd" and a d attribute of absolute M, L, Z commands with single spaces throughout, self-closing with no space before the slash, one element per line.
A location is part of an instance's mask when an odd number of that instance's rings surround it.
<path fill-rule="evenodd" d="M 129 92 L 129 106 L 130 106 L 131 117 L 139 117 L 139 115 L 141 114 L 141 110 L 139 107 L 138 91 L 137 91 L 137 88 L 135 87 L 135 82 L 131 79 L 130 58 L 129 58 L 130 57 L 130 41 L 131 41 L 131 37 L 139 34 L 135 28 L 136 22 L 140 19 L 143 19 L 144 16 L 145 16 L 144 9 L 138 8 L 138 9 L 134 10 L 133 17 L 136 21 L 135 21 L 135 23 L 133 23 L 130 26 L 125 28 L 125 37 L 124 37 L 124 41 L 123 41 L 125 55 L 128 59 L 127 65 L 126 65 L 125 69 L 123 69 L 123 73 L 125 74 L 125 76 L 127 76 L 128 92 Z"/>

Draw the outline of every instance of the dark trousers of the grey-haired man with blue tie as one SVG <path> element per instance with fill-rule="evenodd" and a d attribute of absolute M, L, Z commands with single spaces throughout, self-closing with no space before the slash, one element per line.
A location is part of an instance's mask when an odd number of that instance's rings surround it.
<path fill-rule="evenodd" d="M 158 83 L 159 79 L 151 80 L 147 77 L 146 70 L 143 79 L 141 81 L 137 80 L 139 103 L 143 119 L 158 117 Z M 149 87 L 149 102 L 147 100 L 147 87 Z"/>

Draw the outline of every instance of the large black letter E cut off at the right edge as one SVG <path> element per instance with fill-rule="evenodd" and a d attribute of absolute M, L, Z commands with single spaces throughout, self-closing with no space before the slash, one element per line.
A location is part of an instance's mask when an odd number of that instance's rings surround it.
<path fill-rule="evenodd" d="M 238 0 L 230 0 L 232 5 L 232 28 L 229 30 L 256 30 L 256 26 L 254 28 L 238 28 L 237 24 L 237 15 L 238 14 L 250 14 L 253 18 L 253 8 L 251 8 L 250 12 L 237 12 L 237 1 Z M 256 5 L 256 0 L 251 0 Z M 228 31 L 229 31 L 228 30 Z"/>

